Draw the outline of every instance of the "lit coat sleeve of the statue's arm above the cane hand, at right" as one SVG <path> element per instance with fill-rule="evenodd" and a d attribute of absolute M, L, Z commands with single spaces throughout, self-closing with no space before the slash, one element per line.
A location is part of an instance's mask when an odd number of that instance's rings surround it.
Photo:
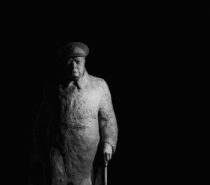
<path fill-rule="evenodd" d="M 113 109 L 111 93 L 107 83 L 103 80 L 102 96 L 99 108 L 99 125 L 102 143 L 109 143 L 115 151 L 118 139 L 117 120 Z"/>

